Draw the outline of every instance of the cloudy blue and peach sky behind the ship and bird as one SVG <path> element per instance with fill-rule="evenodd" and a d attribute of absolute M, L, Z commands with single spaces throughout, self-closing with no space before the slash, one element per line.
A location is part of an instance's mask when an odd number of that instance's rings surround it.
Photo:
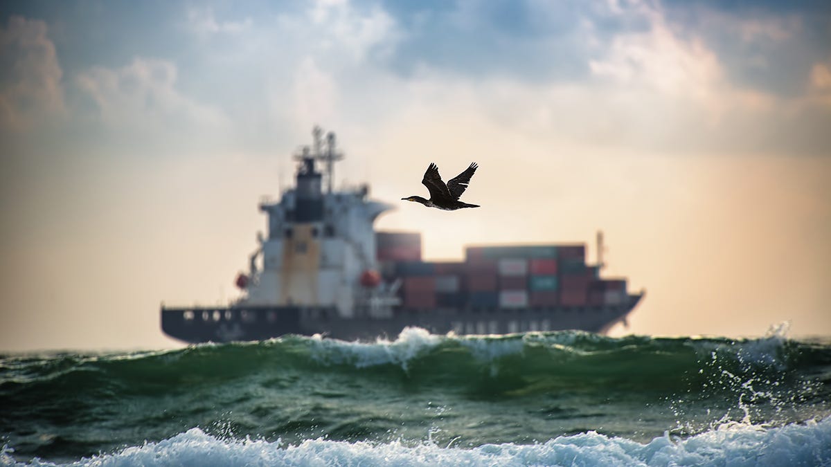
<path fill-rule="evenodd" d="M 602 229 L 612 335 L 831 335 L 828 2 L 10 1 L 0 51 L 0 351 L 180 345 L 313 125 L 426 259 Z"/>

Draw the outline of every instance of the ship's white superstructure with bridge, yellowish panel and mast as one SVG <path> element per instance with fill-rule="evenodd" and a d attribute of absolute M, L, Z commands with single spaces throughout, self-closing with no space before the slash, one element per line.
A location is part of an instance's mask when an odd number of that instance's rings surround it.
<path fill-rule="evenodd" d="M 377 268 L 372 224 L 392 206 L 368 199 L 366 185 L 334 191 L 334 164 L 344 156 L 333 133 L 324 141 L 316 127 L 312 135 L 313 145 L 294 155 L 295 187 L 277 203 L 260 204 L 268 234 L 258 240 L 239 303 L 336 307 L 350 317 L 363 293 L 358 278 Z"/>

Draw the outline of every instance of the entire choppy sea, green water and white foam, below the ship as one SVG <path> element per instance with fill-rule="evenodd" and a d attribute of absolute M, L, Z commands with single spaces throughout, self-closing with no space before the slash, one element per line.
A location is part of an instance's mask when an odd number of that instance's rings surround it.
<path fill-rule="evenodd" d="M 0 356 L 0 465 L 831 465 L 831 339 L 288 336 Z"/>

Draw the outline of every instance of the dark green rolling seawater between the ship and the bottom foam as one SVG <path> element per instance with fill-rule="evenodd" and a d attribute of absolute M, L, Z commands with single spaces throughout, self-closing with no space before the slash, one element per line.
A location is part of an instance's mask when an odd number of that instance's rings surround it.
<path fill-rule="evenodd" d="M 199 428 L 219 440 L 477 449 L 596 432 L 647 443 L 831 415 L 831 342 L 586 332 L 283 337 L 0 356 L 0 445 L 71 462 Z M 2 459 L 0 459 L 2 460 Z"/>

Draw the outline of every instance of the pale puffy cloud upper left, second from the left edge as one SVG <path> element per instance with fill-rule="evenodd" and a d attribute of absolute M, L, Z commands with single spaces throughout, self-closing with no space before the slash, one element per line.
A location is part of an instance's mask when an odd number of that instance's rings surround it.
<path fill-rule="evenodd" d="M 208 130 L 227 123 L 220 111 L 180 93 L 176 80 L 174 63 L 137 57 L 120 68 L 96 66 L 81 72 L 76 84 L 95 102 L 106 125 L 155 129 L 196 125 Z"/>

